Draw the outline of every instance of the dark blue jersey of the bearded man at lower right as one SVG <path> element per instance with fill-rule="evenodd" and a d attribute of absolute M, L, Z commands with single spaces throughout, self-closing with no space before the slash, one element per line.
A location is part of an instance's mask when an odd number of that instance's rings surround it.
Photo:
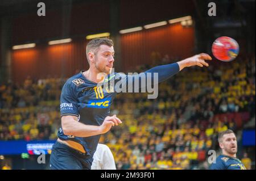
<path fill-rule="evenodd" d="M 238 158 L 219 155 L 216 163 L 212 163 L 210 166 L 210 170 L 246 170 L 246 168 Z"/>

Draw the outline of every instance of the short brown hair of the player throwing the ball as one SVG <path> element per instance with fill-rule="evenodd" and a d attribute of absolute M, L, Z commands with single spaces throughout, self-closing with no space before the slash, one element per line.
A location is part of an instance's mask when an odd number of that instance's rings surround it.
<path fill-rule="evenodd" d="M 108 45 L 109 47 L 112 47 L 114 45 L 114 43 L 112 40 L 110 40 L 106 37 L 101 37 L 101 38 L 90 40 L 89 43 L 86 45 L 86 57 L 87 57 L 88 63 L 89 63 L 88 53 L 90 51 L 97 50 L 97 48 L 99 48 L 100 45 Z"/>

